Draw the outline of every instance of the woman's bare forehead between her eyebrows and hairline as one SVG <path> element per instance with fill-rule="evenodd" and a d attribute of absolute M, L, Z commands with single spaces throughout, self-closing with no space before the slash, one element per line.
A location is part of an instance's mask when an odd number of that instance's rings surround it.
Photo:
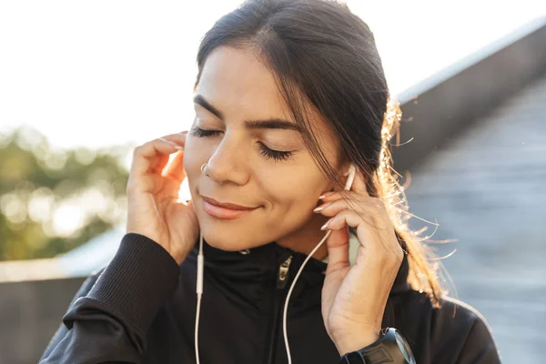
<path fill-rule="evenodd" d="M 215 48 L 207 56 L 196 94 L 227 116 L 237 111 L 251 118 L 275 116 L 291 120 L 275 77 L 252 48 Z"/>

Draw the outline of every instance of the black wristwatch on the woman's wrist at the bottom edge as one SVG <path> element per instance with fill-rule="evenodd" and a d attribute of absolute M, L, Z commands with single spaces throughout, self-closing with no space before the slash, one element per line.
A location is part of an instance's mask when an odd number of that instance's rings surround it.
<path fill-rule="evenodd" d="M 397 329 L 387 328 L 379 340 L 345 354 L 339 364 L 415 364 L 410 346 Z"/>

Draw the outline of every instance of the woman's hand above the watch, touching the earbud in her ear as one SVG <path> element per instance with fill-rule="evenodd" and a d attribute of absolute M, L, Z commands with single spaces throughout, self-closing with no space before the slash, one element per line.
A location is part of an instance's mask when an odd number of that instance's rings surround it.
<path fill-rule="evenodd" d="M 323 227 L 332 232 L 326 242 L 329 263 L 322 317 L 340 355 L 379 339 L 387 298 L 404 254 L 383 201 L 369 196 L 359 171 L 348 192 L 350 204 L 339 192 L 330 192 L 315 210 L 331 217 Z M 356 228 L 360 242 L 353 266 L 349 264 L 349 227 Z"/>

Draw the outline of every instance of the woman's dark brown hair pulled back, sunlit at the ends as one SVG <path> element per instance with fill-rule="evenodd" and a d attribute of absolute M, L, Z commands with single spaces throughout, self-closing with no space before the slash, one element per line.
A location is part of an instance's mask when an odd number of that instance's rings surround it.
<path fill-rule="evenodd" d="M 399 130 L 399 105 L 390 100 L 375 39 L 347 5 L 329 0 L 248 0 L 222 16 L 204 36 L 197 54 L 201 70 L 219 45 L 252 47 L 277 77 L 278 87 L 300 126 L 309 152 L 336 190 L 330 166 L 313 133 L 308 106 L 329 123 L 339 140 L 340 161 L 354 163 L 367 177 L 371 197 L 381 198 L 408 254 L 412 288 L 439 305 L 442 295 L 430 250 L 410 230 L 404 187 L 392 168 L 390 144 Z M 197 83 L 196 83 L 197 85 Z"/>

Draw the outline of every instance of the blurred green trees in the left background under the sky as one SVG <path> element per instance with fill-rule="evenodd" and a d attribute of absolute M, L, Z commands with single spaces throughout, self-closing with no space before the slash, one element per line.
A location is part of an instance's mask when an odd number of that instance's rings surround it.
<path fill-rule="evenodd" d="M 28 128 L 0 135 L 0 260 L 53 257 L 119 225 L 129 150 L 56 149 Z"/>

